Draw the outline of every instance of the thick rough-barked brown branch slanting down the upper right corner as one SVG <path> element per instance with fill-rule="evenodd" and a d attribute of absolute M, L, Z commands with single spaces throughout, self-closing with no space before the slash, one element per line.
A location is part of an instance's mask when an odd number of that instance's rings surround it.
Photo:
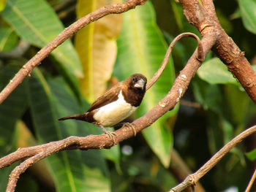
<path fill-rule="evenodd" d="M 180 0 L 180 2 L 187 20 L 200 31 L 202 37 L 208 34 L 208 30 L 215 28 L 217 41 L 212 50 L 227 65 L 227 69 L 234 74 L 256 104 L 256 73 L 244 57 L 244 52 L 220 26 L 213 1 L 202 0 L 203 6 L 199 1 Z"/>

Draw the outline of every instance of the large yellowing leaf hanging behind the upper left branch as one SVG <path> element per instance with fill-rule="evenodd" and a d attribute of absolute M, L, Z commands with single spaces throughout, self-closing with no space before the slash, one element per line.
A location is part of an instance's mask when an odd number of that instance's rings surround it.
<path fill-rule="evenodd" d="M 78 0 L 78 17 L 120 1 Z M 97 99 L 107 88 L 116 61 L 116 38 L 120 31 L 121 15 L 108 15 L 82 28 L 75 36 L 75 48 L 83 66 L 80 88 L 90 102 Z"/>

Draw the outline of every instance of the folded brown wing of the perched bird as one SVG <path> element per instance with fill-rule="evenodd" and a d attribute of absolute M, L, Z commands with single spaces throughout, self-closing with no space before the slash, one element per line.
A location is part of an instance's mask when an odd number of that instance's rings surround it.
<path fill-rule="evenodd" d="M 94 101 L 93 104 L 91 104 L 91 107 L 87 110 L 87 112 L 90 112 L 92 110 L 97 110 L 99 107 L 102 107 L 106 104 L 116 101 L 118 99 L 118 93 L 121 91 L 122 84 L 123 82 L 118 82 L 116 83 L 116 85 L 113 85 L 112 88 L 110 88 L 107 92 L 105 92 L 102 96 L 100 96 L 96 101 Z"/>

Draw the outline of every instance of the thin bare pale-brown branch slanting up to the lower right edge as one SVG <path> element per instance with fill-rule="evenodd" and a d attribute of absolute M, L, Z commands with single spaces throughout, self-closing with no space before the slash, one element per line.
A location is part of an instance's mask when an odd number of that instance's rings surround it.
<path fill-rule="evenodd" d="M 183 191 L 185 188 L 195 185 L 198 180 L 200 180 L 203 175 L 210 171 L 230 150 L 233 149 L 239 142 L 243 141 L 246 137 L 256 132 L 256 126 L 246 129 L 245 131 L 238 134 L 234 139 L 228 142 L 221 150 L 219 150 L 212 158 L 206 162 L 200 169 L 197 170 L 194 174 L 189 174 L 189 176 L 176 187 L 172 188 L 170 192 L 179 192 Z"/>

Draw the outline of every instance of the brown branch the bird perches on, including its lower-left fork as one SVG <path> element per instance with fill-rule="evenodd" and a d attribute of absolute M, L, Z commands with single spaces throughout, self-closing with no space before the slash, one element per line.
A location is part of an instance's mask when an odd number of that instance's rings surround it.
<path fill-rule="evenodd" d="M 190 35 L 190 34 L 189 34 Z M 197 39 L 198 40 L 198 39 Z M 199 41 L 200 42 L 200 41 Z M 200 46 L 202 45 L 206 53 L 210 50 L 211 45 L 213 45 L 215 39 L 212 36 L 208 36 L 208 38 L 202 39 Z M 200 48 L 200 58 L 204 58 L 203 50 Z M 133 122 L 134 128 L 136 132 L 143 130 L 148 126 L 151 126 L 158 118 L 164 115 L 169 110 L 173 109 L 178 101 L 181 99 L 181 96 L 184 95 L 185 91 L 187 91 L 187 87 L 189 82 L 194 77 L 195 72 L 201 65 L 202 60 L 197 58 L 198 51 L 195 50 L 192 57 L 189 59 L 187 65 L 180 72 L 175 82 L 173 83 L 173 87 L 167 93 L 164 99 L 160 101 L 152 110 L 143 115 L 143 117 L 138 118 Z M 168 59 L 164 60 L 165 62 Z M 166 64 L 164 64 L 166 66 Z M 116 134 L 116 143 L 123 141 L 124 139 L 128 139 L 129 137 L 134 136 L 134 130 L 129 126 L 123 126 L 115 131 Z M 68 137 L 67 139 L 63 139 L 57 142 L 50 142 L 44 145 L 37 145 L 34 147 L 26 147 L 20 148 L 14 153 L 7 155 L 0 159 L 0 168 L 4 166 L 9 166 L 23 158 L 28 158 L 26 161 L 17 166 L 12 173 L 10 174 L 10 180 L 7 185 L 7 191 L 12 192 L 15 191 L 15 186 L 17 184 L 18 178 L 20 174 L 26 171 L 29 166 L 33 165 L 37 161 L 40 161 L 42 158 L 47 157 L 53 153 L 56 153 L 60 150 L 89 150 L 89 149 L 102 149 L 102 148 L 110 148 L 116 143 L 113 143 L 113 140 L 110 139 L 106 134 L 101 135 L 89 135 L 87 137 Z"/>

